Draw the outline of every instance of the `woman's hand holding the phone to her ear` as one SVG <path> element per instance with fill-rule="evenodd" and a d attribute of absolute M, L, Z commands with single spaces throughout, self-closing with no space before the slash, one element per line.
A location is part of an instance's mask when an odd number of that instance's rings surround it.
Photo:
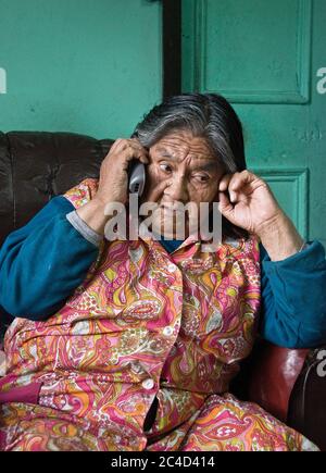
<path fill-rule="evenodd" d="M 112 145 L 100 169 L 100 179 L 95 199 L 106 206 L 128 200 L 128 165 L 133 159 L 148 164 L 148 151 L 137 138 L 120 138 Z"/>

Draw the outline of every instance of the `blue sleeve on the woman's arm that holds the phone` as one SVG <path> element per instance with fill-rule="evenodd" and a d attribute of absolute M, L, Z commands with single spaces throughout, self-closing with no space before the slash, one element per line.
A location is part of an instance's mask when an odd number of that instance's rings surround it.
<path fill-rule="evenodd" d="M 7 237 L 0 250 L 0 306 L 10 314 L 46 319 L 85 279 L 99 248 L 67 221 L 73 210 L 65 197 L 54 197 Z"/>

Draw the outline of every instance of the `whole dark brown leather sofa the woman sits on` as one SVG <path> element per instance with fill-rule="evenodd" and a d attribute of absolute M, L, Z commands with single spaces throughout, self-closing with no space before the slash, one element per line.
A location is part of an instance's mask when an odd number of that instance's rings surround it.
<path fill-rule="evenodd" d="M 98 177 L 112 142 L 70 133 L 0 133 L 0 246 L 53 196 Z M 0 321 L 3 334 L 10 321 L 3 310 Z M 323 348 L 290 350 L 258 341 L 233 391 L 326 450 L 326 376 L 317 370 L 323 354 Z"/>

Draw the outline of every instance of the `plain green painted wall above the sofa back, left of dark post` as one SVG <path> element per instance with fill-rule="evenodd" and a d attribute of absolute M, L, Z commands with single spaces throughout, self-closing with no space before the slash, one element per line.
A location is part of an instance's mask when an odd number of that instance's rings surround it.
<path fill-rule="evenodd" d="M 129 136 L 162 96 L 161 8 L 0 0 L 0 130 Z"/>

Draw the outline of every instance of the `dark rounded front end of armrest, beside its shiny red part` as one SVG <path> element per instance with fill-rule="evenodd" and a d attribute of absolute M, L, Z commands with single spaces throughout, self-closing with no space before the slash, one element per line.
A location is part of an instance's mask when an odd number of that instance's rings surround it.
<path fill-rule="evenodd" d="M 326 346 L 310 350 L 290 397 L 287 423 L 326 451 Z"/>

